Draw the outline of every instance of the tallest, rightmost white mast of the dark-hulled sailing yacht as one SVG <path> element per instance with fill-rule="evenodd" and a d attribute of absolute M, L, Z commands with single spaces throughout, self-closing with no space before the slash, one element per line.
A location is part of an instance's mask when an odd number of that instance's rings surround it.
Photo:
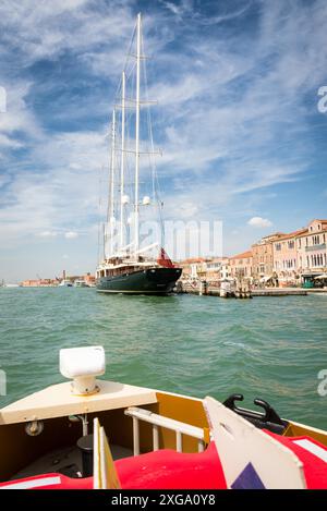
<path fill-rule="evenodd" d="M 135 115 L 135 204 L 134 204 L 134 236 L 135 236 L 135 257 L 138 253 L 140 226 L 138 226 L 138 170 L 140 170 L 140 68 L 141 68 L 141 13 L 137 14 L 136 24 L 136 115 Z"/>

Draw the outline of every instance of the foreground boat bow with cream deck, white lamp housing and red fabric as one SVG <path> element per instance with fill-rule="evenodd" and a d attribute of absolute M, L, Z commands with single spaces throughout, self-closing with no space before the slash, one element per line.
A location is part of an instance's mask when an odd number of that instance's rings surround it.
<path fill-rule="evenodd" d="M 61 350 L 72 382 L 0 410 L 0 488 L 106 488 L 108 471 L 122 489 L 327 488 L 326 431 L 262 400 L 264 413 L 235 406 L 241 396 L 96 379 L 105 368 L 101 346 Z"/>

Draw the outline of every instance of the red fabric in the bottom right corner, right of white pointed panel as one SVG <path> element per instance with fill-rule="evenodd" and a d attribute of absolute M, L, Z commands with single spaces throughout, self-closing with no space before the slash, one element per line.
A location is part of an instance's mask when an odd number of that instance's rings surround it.
<path fill-rule="evenodd" d="M 264 429 L 264 431 L 283 446 L 288 447 L 291 451 L 294 452 L 299 460 L 302 461 L 307 489 L 327 489 L 327 463 L 303 447 L 294 443 L 294 440 L 310 440 L 311 442 L 327 451 L 326 446 L 306 436 L 282 437 L 280 435 L 275 435 L 274 433 L 266 429 Z"/>

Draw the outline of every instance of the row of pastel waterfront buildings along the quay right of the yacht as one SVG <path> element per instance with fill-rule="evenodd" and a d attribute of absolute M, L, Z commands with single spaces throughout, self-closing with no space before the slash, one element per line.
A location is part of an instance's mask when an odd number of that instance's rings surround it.
<path fill-rule="evenodd" d="M 228 278 L 255 284 L 301 285 L 327 273 L 327 220 L 314 219 L 305 228 L 275 232 L 233 257 L 190 258 L 181 261 L 184 281 L 206 280 L 210 285 Z"/>

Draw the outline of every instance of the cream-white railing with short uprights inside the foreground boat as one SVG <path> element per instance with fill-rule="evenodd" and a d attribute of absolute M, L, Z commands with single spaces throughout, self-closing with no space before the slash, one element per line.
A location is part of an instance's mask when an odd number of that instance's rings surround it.
<path fill-rule="evenodd" d="M 159 426 L 175 431 L 175 450 L 178 452 L 183 452 L 182 435 L 186 435 L 198 440 L 198 452 L 203 452 L 205 449 L 205 431 L 201 427 L 192 426 L 191 424 L 182 423 L 180 421 L 175 421 L 174 418 L 165 417 L 162 415 L 153 413 L 149 410 L 140 409 L 136 406 L 130 406 L 124 411 L 124 414 L 133 418 L 134 457 L 140 454 L 140 421 L 144 421 L 153 425 L 154 451 L 157 451 L 159 449 Z"/>

